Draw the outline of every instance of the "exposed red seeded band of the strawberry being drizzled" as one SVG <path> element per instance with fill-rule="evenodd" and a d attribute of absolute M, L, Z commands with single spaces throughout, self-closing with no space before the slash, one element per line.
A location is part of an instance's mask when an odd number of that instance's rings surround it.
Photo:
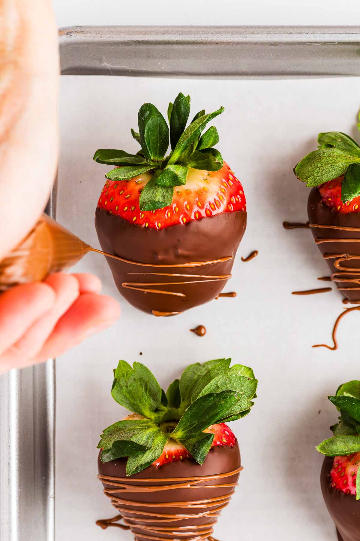
<path fill-rule="evenodd" d="M 189 169 L 185 186 L 174 188 L 171 205 L 141 212 L 140 193 L 151 178 L 150 173 L 144 173 L 128 181 L 107 180 L 98 208 L 138 226 L 153 229 L 246 210 L 242 184 L 225 162 L 219 171 Z"/>

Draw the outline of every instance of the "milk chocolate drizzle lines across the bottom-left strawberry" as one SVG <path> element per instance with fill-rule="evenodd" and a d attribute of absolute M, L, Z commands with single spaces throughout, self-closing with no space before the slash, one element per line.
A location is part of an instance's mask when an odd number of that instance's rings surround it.
<path fill-rule="evenodd" d="M 146 502 L 134 502 L 132 500 L 127 500 L 120 498 L 119 493 L 141 493 L 141 492 L 161 492 L 165 490 L 176 490 L 176 489 L 201 489 L 202 483 L 206 483 L 215 479 L 225 479 L 226 477 L 231 477 L 236 473 L 239 473 L 242 470 L 242 466 L 237 468 L 234 471 L 227 473 L 219 473 L 216 475 L 203 476 L 203 477 L 175 477 L 175 478 L 160 478 L 160 479 L 141 479 L 141 478 L 121 478 L 121 477 L 111 477 L 104 476 L 99 474 L 98 479 L 106 483 L 107 485 L 112 485 L 113 489 L 104 489 L 105 495 L 111 499 L 111 503 L 116 509 L 120 511 L 120 514 L 117 517 L 112 519 L 97 520 L 97 525 L 103 529 L 106 529 L 108 526 L 118 526 L 130 528 L 131 530 L 137 529 L 142 530 L 144 533 L 135 534 L 135 541 L 138 541 L 139 537 L 142 539 L 151 539 L 153 541 L 163 541 L 168 539 L 168 541 L 179 541 L 179 536 L 195 536 L 188 541 L 202 541 L 208 539 L 208 541 L 216 541 L 212 537 L 214 525 L 218 520 L 219 511 L 226 507 L 234 493 L 235 486 L 237 483 L 223 483 L 221 485 L 206 485 L 206 489 L 219 489 L 219 487 L 234 487 L 229 494 L 226 496 L 216 496 L 214 498 L 206 498 L 206 500 L 190 500 L 188 502 L 164 502 L 164 503 L 146 503 Z M 133 483 L 137 484 L 133 484 Z M 165 484 L 165 483 L 171 484 Z M 144 483 L 144 484 L 143 484 Z M 126 505 L 132 505 L 136 507 L 144 507 L 144 511 L 137 511 L 131 508 L 126 507 Z M 159 507 L 159 513 L 148 513 L 146 512 L 147 507 Z M 173 514 L 171 512 L 166 512 L 171 510 L 172 507 L 178 507 L 184 509 L 184 513 Z M 196 514 L 186 514 L 187 509 L 199 509 L 199 513 Z M 161 512 L 163 511 L 163 512 Z M 139 517 L 133 517 L 128 515 L 138 515 Z M 152 519 L 149 519 L 149 515 Z M 180 522 L 181 520 L 189 520 L 192 518 L 207 517 L 209 520 L 206 524 L 196 524 L 191 527 L 186 526 L 171 526 L 172 522 Z M 123 519 L 124 525 L 117 525 L 116 521 Z M 150 524 L 144 523 L 159 523 L 168 524 L 169 526 L 151 526 Z M 135 532 L 133 532 L 135 533 Z M 172 536 L 172 537 L 168 537 Z"/>

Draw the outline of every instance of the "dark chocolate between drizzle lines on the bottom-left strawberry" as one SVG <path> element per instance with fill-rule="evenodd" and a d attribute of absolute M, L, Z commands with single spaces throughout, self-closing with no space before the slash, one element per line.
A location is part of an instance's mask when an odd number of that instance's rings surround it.
<path fill-rule="evenodd" d="M 158 466 L 148 466 L 145 470 L 136 473 L 133 476 L 128 477 L 128 482 L 131 484 L 134 484 L 134 480 L 137 478 L 178 478 L 179 482 L 181 482 L 182 478 L 184 477 L 198 477 L 198 476 L 208 476 L 208 475 L 214 475 L 219 473 L 227 473 L 233 470 L 236 470 L 241 465 L 241 459 L 240 459 L 240 451 L 239 451 L 239 445 L 237 444 L 232 448 L 229 445 L 226 446 L 219 446 L 219 447 L 213 447 L 210 449 L 208 456 L 206 457 L 204 463 L 202 466 L 200 464 L 196 463 L 193 459 L 185 459 L 185 460 L 176 460 L 174 462 L 169 462 L 167 464 L 164 464 L 161 467 Z M 126 477 L 126 459 L 120 458 L 118 460 L 112 460 L 110 462 L 101 463 L 100 460 L 100 454 L 98 458 L 98 470 L 99 473 L 105 476 L 111 476 L 111 477 Z M 237 479 L 239 478 L 239 473 L 234 474 L 233 476 L 226 477 L 226 478 L 220 478 L 220 479 L 213 479 L 210 481 L 206 481 L 205 483 L 201 484 L 201 487 L 198 489 L 188 489 L 188 488 L 182 488 L 182 489 L 171 489 L 171 490 L 165 490 L 165 491 L 159 491 L 159 492 L 130 492 L 129 494 L 126 494 L 125 491 L 119 491 L 117 492 L 117 497 L 121 499 L 128 499 L 132 500 L 132 502 L 150 502 L 154 504 L 161 504 L 161 503 L 169 503 L 169 502 L 193 502 L 194 500 L 207 500 L 208 498 L 216 498 L 219 496 L 225 496 L 226 494 L 229 494 L 233 492 L 234 487 L 219 487 L 219 488 L 207 488 L 206 485 L 221 485 L 221 484 L 227 484 L 227 483 L 236 483 Z M 174 481 L 171 481 L 169 483 L 161 484 L 174 484 Z M 106 483 L 103 483 L 105 488 L 113 488 L 111 485 L 108 485 Z M 158 486 L 158 485 L 157 485 Z M 136 506 L 134 504 L 121 504 L 123 507 L 125 506 L 126 509 L 129 509 L 130 511 L 144 511 L 144 507 Z M 119 506 L 114 505 L 116 509 L 118 509 Z M 199 509 L 199 507 L 188 507 L 186 510 L 184 507 L 164 507 L 163 509 L 161 507 L 146 507 L 147 513 L 172 513 L 172 514 L 198 514 L 202 511 L 206 511 L 205 507 L 203 509 Z M 131 520 L 133 517 L 136 518 L 145 518 L 146 516 L 141 516 L 136 513 L 126 512 L 127 518 Z M 164 525 L 164 523 L 160 522 L 152 522 L 153 518 L 151 516 L 147 517 L 150 521 L 150 524 L 154 526 L 161 526 Z M 185 519 L 180 521 L 174 521 L 171 522 L 172 527 L 176 526 L 194 526 L 194 525 L 201 525 L 201 524 L 208 524 L 209 523 L 209 517 L 196 517 L 192 519 Z M 142 523 L 144 524 L 144 523 Z M 145 523 L 146 524 L 146 523 Z M 148 539 L 141 537 L 141 533 L 143 533 L 140 529 L 138 529 L 136 526 L 132 526 L 132 531 L 137 535 L 137 539 L 139 541 L 148 541 Z M 156 534 L 154 534 L 156 535 Z M 173 539 L 174 536 L 170 535 L 167 536 L 164 533 L 161 533 L 161 538 L 170 538 Z M 182 536 L 181 539 L 184 539 L 184 541 L 189 541 L 189 539 L 193 539 L 194 536 Z"/>

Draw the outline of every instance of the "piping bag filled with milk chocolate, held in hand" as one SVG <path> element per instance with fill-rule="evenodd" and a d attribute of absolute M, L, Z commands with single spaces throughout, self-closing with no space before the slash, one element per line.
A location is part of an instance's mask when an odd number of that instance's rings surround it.
<path fill-rule="evenodd" d="M 43 214 L 28 236 L 0 261 L 0 292 L 65 271 L 90 251 L 99 250 Z"/>

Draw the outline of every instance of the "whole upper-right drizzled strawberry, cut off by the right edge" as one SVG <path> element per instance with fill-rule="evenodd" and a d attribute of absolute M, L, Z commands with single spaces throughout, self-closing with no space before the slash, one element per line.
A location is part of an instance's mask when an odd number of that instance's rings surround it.
<path fill-rule="evenodd" d="M 308 187 L 315 242 L 347 302 L 360 304 L 360 147 L 339 131 L 321 133 L 319 148 L 294 173 Z"/>

